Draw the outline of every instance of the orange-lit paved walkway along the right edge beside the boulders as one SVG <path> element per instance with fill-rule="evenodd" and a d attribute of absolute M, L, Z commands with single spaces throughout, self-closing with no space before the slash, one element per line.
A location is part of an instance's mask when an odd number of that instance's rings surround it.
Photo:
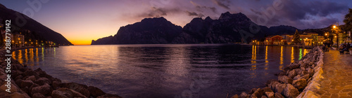
<path fill-rule="evenodd" d="M 339 51 L 325 52 L 320 81 L 320 97 L 352 97 L 352 55 L 339 55 Z"/>

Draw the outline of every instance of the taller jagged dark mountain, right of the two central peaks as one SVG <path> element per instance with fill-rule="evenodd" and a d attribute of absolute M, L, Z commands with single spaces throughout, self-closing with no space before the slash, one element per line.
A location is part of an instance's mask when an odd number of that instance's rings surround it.
<path fill-rule="evenodd" d="M 251 31 L 250 27 L 258 29 Z M 194 18 L 184 26 L 180 36 L 173 43 L 235 43 L 263 38 L 262 27 L 252 22 L 242 13 L 222 13 L 218 20 L 207 17 L 205 20 Z M 242 34 L 242 35 L 241 35 Z M 249 37 L 246 37 L 249 36 Z"/>

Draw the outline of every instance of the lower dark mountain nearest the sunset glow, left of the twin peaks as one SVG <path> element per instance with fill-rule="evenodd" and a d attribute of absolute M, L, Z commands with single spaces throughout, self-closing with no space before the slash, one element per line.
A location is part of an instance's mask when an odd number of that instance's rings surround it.
<path fill-rule="evenodd" d="M 92 45 L 101 44 L 165 44 L 180 34 L 182 27 L 165 18 L 146 18 L 133 25 L 120 27 L 115 36 L 99 38 Z"/>

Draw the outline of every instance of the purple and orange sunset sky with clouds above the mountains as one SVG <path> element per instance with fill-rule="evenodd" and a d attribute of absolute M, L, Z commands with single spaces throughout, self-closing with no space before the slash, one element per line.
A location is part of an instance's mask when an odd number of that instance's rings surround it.
<path fill-rule="evenodd" d="M 317 29 L 344 24 L 351 0 L 0 0 L 7 8 L 37 20 L 74 45 L 115 35 L 120 27 L 144 18 L 164 17 L 184 27 L 193 18 L 218 19 L 244 13 L 267 27 L 289 25 Z M 34 4 L 34 7 L 32 6 Z M 38 4 L 39 3 L 39 4 Z M 34 14 L 26 13 L 34 10 Z"/>

